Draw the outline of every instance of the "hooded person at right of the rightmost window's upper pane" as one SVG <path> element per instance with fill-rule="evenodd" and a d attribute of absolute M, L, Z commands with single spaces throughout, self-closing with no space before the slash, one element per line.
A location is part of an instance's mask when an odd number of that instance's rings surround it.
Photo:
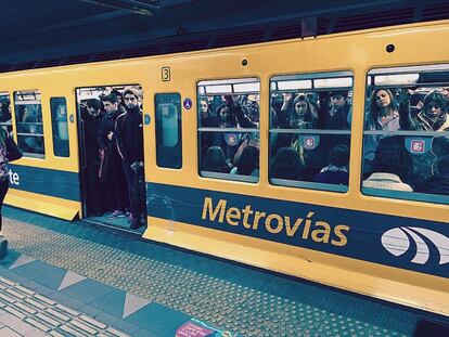
<path fill-rule="evenodd" d="M 445 95 L 434 90 L 424 96 L 422 111 L 416 117 L 410 114 L 410 93 L 400 91 L 400 126 L 402 130 L 448 131 L 448 106 Z"/>

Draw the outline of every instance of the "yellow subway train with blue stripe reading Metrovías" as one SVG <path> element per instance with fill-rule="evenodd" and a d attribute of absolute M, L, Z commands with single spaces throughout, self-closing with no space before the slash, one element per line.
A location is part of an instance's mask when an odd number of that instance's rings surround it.
<path fill-rule="evenodd" d="M 133 88 L 143 238 L 449 315 L 448 40 L 439 21 L 1 74 L 24 152 L 5 203 L 114 225 L 87 207 L 81 111 Z"/>

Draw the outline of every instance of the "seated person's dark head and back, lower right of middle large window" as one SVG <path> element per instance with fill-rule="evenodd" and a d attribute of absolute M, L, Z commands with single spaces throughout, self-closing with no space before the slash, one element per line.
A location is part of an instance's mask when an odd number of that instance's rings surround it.
<path fill-rule="evenodd" d="M 329 154 L 329 165 L 315 176 L 313 181 L 326 184 L 347 185 L 349 181 L 349 147 L 339 144 Z"/>

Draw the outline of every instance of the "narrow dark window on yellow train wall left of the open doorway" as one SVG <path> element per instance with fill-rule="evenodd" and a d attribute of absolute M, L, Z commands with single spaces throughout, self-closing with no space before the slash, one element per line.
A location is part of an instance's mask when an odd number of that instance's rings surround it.
<path fill-rule="evenodd" d="M 65 98 L 51 98 L 50 108 L 53 131 L 53 153 L 57 157 L 68 157 L 67 103 Z"/>

